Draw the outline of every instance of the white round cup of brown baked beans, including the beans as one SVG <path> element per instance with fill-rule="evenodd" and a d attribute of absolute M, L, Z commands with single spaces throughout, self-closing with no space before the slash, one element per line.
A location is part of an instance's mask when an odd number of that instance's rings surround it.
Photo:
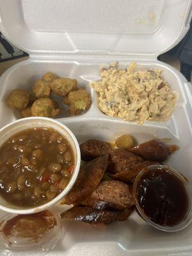
<path fill-rule="evenodd" d="M 74 186 L 80 163 L 79 143 L 66 125 L 45 117 L 5 125 L 0 129 L 0 209 L 32 214 L 51 207 Z"/>

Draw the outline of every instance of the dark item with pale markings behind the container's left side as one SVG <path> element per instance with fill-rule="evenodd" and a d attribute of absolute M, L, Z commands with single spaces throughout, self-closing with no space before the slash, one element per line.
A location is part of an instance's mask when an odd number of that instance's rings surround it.
<path fill-rule="evenodd" d="M 13 60 L 24 56 L 28 56 L 28 54 L 6 41 L 0 32 L 0 62 Z"/>

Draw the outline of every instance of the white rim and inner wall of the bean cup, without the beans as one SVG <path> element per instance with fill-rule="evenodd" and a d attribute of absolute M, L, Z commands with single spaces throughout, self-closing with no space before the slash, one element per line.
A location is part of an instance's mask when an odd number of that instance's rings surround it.
<path fill-rule="evenodd" d="M 48 207 L 51 207 L 53 204 L 56 204 L 58 201 L 60 201 L 63 196 L 67 195 L 67 193 L 70 191 L 70 189 L 72 189 L 74 183 L 76 182 L 81 164 L 79 143 L 76 139 L 76 136 L 74 136 L 74 134 L 70 131 L 70 129 L 68 129 L 66 125 L 54 119 L 32 116 L 28 118 L 21 118 L 5 125 L 0 129 L 0 147 L 6 140 L 18 132 L 36 127 L 52 128 L 55 131 L 60 132 L 60 134 L 62 134 L 67 139 L 72 147 L 72 151 L 74 152 L 74 172 L 72 173 L 72 177 L 68 182 L 67 187 L 63 189 L 63 191 L 58 196 L 43 205 L 38 205 L 36 207 L 19 207 L 8 203 L 2 196 L 0 196 L 0 209 L 3 211 L 12 212 L 15 214 L 31 214 L 44 211 Z"/>

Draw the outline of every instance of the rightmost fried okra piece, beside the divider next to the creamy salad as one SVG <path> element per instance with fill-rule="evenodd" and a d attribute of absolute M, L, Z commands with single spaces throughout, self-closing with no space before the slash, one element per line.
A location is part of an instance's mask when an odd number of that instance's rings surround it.
<path fill-rule="evenodd" d="M 72 115 L 79 115 L 83 113 L 83 111 L 88 109 L 91 104 L 90 95 L 84 89 L 68 93 L 68 101 L 68 110 Z"/>

